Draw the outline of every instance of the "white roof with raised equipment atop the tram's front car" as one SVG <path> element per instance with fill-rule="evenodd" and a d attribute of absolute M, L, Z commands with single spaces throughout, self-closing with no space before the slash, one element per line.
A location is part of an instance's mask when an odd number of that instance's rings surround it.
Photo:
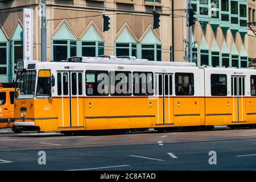
<path fill-rule="evenodd" d="M 170 62 L 170 61 L 148 61 L 147 59 L 136 59 L 136 57 L 133 57 L 133 56 L 69 57 L 67 60 L 64 60 L 62 62 L 196 67 L 196 63 Z"/>

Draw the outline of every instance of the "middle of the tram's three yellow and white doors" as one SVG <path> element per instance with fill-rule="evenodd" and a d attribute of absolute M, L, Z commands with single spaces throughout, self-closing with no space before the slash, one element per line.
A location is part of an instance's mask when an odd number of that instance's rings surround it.
<path fill-rule="evenodd" d="M 156 78 L 157 77 L 157 78 Z M 172 74 L 158 73 L 155 79 L 158 82 L 158 123 L 168 125 L 174 123 L 174 107 L 172 98 Z"/>

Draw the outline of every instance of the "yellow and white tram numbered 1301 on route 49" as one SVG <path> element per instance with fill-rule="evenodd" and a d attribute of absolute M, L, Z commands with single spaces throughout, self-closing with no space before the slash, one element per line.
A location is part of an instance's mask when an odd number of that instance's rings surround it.
<path fill-rule="evenodd" d="M 17 61 L 13 131 L 256 125 L 256 71 L 135 57 Z"/>

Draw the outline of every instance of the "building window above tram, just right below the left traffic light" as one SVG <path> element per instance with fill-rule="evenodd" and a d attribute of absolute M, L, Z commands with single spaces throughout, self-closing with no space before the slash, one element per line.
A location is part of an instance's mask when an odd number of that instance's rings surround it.
<path fill-rule="evenodd" d="M 116 56 L 135 56 L 137 57 L 137 44 L 133 43 L 116 43 Z"/>

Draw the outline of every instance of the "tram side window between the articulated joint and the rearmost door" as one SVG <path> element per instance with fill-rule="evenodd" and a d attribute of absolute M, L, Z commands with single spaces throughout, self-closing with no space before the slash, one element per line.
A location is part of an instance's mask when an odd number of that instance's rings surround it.
<path fill-rule="evenodd" d="M 210 75 L 210 92 L 212 96 L 227 96 L 226 75 Z"/>

